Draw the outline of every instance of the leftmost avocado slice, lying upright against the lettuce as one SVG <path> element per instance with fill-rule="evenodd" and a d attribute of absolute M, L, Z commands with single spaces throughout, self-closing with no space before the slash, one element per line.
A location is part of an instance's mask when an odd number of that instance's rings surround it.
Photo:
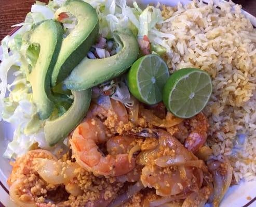
<path fill-rule="evenodd" d="M 59 22 L 45 20 L 32 28 L 29 43 L 36 45 L 38 58 L 28 75 L 32 86 L 32 99 L 38 109 L 39 119 L 47 119 L 54 104 L 51 101 L 51 75 L 61 48 L 63 29 Z"/>

